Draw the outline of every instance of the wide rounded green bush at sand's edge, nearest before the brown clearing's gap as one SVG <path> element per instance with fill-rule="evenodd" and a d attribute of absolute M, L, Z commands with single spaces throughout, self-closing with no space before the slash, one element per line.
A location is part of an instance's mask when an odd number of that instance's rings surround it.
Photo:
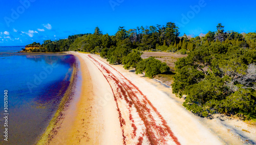
<path fill-rule="evenodd" d="M 139 62 L 136 68 L 136 74 L 145 72 L 145 76 L 153 78 L 157 74 L 164 73 L 169 70 L 166 63 L 156 60 L 154 57 L 149 57 Z"/>

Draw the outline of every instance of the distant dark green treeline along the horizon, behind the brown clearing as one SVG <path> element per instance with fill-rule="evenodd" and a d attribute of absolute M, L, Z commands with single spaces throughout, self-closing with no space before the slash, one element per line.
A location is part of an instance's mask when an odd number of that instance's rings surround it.
<path fill-rule="evenodd" d="M 179 35 L 179 28 L 172 22 L 168 22 L 166 25 L 140 26 L 130 30 L 119 26 L 117 33 L 113 36 L 103 35 L 99 27 L 96 27 L 94 34 L 73 35 L 68 39 L 57 41 L 46 40 L 44 44 L 40 45 L 40 48 L 44 48 L 47 52 L 74 50 L 100 53 L 103 48 L 110 49 L 125 45 L 141 51 L 178 51 L 184 54 L 205 43 L 221 42 L 252 49 L 256 47 L 256 33 L 224 32 L 224 26 L 221 23 L 217 25 L 216 32 L 209 31 L 205 36 L 190 38 L 186 34 L 182 37 Z"/>

